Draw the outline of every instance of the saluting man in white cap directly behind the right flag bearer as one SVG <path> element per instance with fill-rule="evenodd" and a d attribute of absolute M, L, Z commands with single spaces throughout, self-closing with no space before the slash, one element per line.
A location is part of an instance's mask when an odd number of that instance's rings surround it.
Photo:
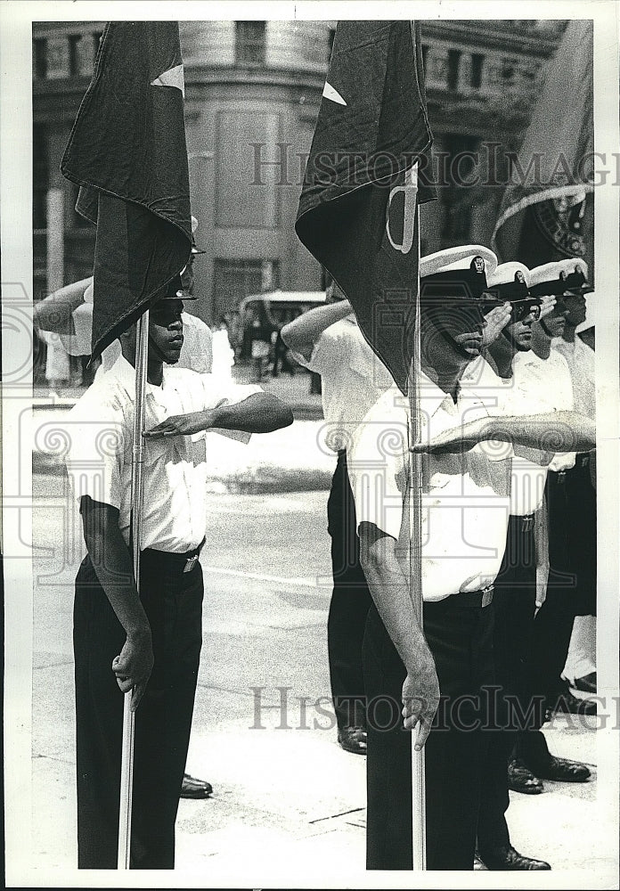
<path fill-rule="evenodd" d="M 516 277 L 519 277 L 520 281 Z M 516 283 L 518 281 L 518 283 Z M 573 409 L 570 380 L 560 356 L 546 364 L 532 351 L 532 323 L 541 315 L 542 298 L 529 298 L 529 270 L 519 263 L 498 266 L 489 278 L 490 291 L 510 299 L 512 318 L 489 347 L 489 360 L 500 376 L 500 385 L 484 378 L 489 396 L 496 393 L 502 411 L 533 414 Z M 520 289 L 520 291 L 519 291 Z M 559 364 L 559 368 L 557 365 Z M 534 538 L 536 514 L 542 508 L 547 465 L 552 452 L 524 450 L 515 446 L 510 486 L 510 519 L 502 568 L 494 583 L 494 651 L 498 691 L 498 728 L 489 739 L 482 781 L 482 801 L 477 830 L 480 859 L 489 869 L 549 869 L 548 864 L 517 855 L 510 846 L 504 813 L 508 790 L 542 791 L 534 777 L 520 778 L 515 759 L 509 758 L 517 733 L 526 729 L 530 695 L 525 663 L 534 623 L 537 557 Z M 510 770 L 510 783 L 509 772 Z M 556 781 L 583 781 L 590 776 L 585 764 L 549 756 L 543 777 Z M 537 865 L 533 865 L 537 864 Z"/>

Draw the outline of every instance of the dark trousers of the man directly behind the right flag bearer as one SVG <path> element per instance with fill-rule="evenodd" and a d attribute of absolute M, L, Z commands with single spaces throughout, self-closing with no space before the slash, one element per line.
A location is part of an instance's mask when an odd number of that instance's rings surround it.
<path fill-rule="evenodd" d="M 510 844 L 505 813 L 509 805 L 508 760 L 518 732 L 532 723 L 534 703 L 526 685 L 526 659 L 536 601 L 534 523 L 510 517 L 502 568 L 494 581 L 494 661 L 498 688 L 498 729 L 488 735 L 478 820 L 478 848 L 484 854 Z"/>

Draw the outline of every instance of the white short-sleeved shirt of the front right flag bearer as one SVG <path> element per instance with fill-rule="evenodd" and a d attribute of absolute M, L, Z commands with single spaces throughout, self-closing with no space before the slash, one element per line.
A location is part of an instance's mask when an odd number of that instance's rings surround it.
<path fill-rule="evenodd" d="M 491 413 L 466 383 L 456 404 L 420 377 L 422 439 Z M 408 401 L 393 387 L 355 431 L 347 468 L 358 528 L 370 522 L 397 540 L 406 564 L 409 524 L 406 487 Z M 510 511 L 506 443 L 483 443 L 464 454 L 422 455 L 422 594 L 439 601 L 494 582 L 502 565 Z"/>

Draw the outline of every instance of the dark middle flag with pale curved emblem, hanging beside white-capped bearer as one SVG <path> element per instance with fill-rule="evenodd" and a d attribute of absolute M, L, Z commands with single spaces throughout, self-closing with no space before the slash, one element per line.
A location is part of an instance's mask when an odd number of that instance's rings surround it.
<path fill-rule="evenodd" d="M 306 165 L 296 230 L 355 309 L 403 392 L 419 264 L 416 198 L 431 143 L 418 26 L 340 21 Z"/>

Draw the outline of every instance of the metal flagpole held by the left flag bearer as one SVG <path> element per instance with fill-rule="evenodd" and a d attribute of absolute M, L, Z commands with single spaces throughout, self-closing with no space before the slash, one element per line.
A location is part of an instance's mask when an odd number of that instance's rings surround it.
<path fill-rule="evenodd" d="M 149 352 L 149 310 L 138 319 L 135 342 L 134 443 L 131 461 L 131 537 L 135 586 L 140 592 L 140 542 L 143 503 L 144 392 Z M 123 741 L 120 761 L 120 809 L 118 813 L 118 869 L 128 870 L 131 856 L 131 806 L 134 787 L 134 719 L 132 691 L 123 701 Z"/>

